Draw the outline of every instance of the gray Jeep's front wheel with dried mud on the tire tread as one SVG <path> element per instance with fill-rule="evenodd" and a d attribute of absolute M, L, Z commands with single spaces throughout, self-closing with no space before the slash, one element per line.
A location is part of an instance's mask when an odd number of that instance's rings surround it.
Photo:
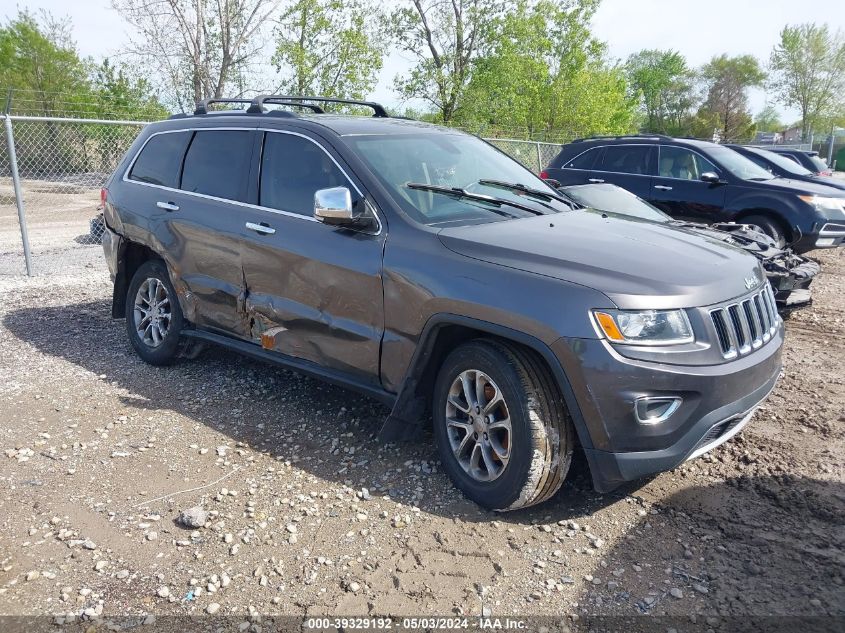
<path fill-rule="evenodd" d="M 444 470 L 477 504 L 516 510 L 549 499 L 563 484 L 572 424 L 533 352 L 486 339 L 461 345 L 440 368 L 433 412 Z"/>

